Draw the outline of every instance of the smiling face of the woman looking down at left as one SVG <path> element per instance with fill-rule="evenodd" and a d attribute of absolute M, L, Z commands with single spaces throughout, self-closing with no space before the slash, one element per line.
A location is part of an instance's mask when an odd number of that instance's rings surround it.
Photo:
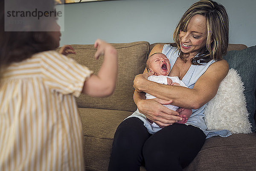
<path fill-rule="evenodd" d="M 187 26 L 187 30 L 180 31 L 180 49 L 183 53 L 197 55 L 198 52 L 206 46 L 207 41 L 207 23 L 206 17 L 201 14 L 193 16 Z"/>

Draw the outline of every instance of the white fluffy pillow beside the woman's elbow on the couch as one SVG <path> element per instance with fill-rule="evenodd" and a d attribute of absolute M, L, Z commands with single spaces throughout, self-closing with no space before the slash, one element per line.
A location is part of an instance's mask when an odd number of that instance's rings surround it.
<path fill-rule="evenodd" d="M 205 107 L 207 130 L 225 129 L 231 133 L 252 133 L 243 84 L 236 70 L 230 69 L 216 96 Z"/>

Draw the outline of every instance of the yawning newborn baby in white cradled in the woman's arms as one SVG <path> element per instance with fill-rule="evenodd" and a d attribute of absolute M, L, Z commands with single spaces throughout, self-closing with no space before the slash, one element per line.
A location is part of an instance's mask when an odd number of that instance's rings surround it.
<path fill-rule="evenodd" d="M 150 55 L 148 57 L 146 67 L 148 69 L 148 72 L 154 72 L 154 75 L 151 75 L 148 77 L 149 81 L 154 81 L 160 84 L 166 84 L 166 85 L 175 85 L 175 86 L 183 86 L 187 87 L 183 81 L 181 81 L 177 76 L 175 77 L 170 77 L 169 72 L 171 71 L 171 65 L 169 63 L 169 59 L 164 55 L 163 53 L 154 53 L 153 55 Z M 146 99 L 154 99 L 156 97 L 146 93 Z M 174 106 L 172 104 L 167 104 L 164 105 L 167 108 L 171 110 L 177 111 L 180 115 L 180 117 L 183 119 L 182 121 L 178 121 L 176 123 L 179 124 L 185 124 L 188 120 L 188 118 L 192 114 L 191 109 L 184 109 L 184 108 L 179 108 L 177 106 Z M 159 126 L 148 119 L 148 121 L 151 123 L 152 127 L 157 127 Z"/>

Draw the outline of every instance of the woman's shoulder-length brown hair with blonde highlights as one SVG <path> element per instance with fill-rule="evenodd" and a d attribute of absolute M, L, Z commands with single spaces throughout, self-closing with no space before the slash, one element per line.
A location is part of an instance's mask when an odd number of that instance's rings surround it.
<path fill-rule="evenodd" d="M 200 50 L 199 55 L 191 59 L 192 64 L 201 65 L 201 63 L 207 63 L 212 59 L 221 60 L 222 55 L 227 53 L 229 20 L 225 7 L 212 0 L 200 0 L 186 10 L 173 33 L 175 43 L 171 45 L 177 47 L 180 58 L 186 61 L 183 57 L 184 53 L 180 50 L 179 33 L 186 31 L 190 19 L 196 14 L 206 17 L 207 42 L 206 46 Z"/>

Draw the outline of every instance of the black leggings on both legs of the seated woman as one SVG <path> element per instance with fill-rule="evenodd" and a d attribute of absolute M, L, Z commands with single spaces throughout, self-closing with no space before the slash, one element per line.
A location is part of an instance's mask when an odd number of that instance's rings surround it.
<path fill-rule="evenodd" d="M 108 171 L 182 171 L 201 150 L 202 130 L 173 124 L 151 135 L 143 122 L 131 117 L 116 129 Z"/>

